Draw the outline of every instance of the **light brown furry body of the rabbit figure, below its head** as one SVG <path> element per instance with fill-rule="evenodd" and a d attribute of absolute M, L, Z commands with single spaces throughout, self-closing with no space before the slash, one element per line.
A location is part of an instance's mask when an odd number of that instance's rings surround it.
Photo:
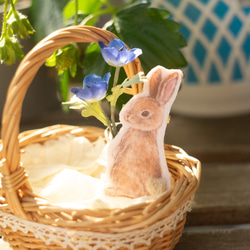
<path fill-rule="evenodd" d="M 120 133 L 123 132 L 120 131 Z M 156 131 L 141 131 L 133 128 L 126 131 L 125 137 L 113 152 L 112 167 L 108 169 L 112 186 L 106 189 L 106 194 L 126 197 L 150 195 L 143 183 L 152 178 L 162 177 L 159 155 L 155 146 L 155 133 Z"/>

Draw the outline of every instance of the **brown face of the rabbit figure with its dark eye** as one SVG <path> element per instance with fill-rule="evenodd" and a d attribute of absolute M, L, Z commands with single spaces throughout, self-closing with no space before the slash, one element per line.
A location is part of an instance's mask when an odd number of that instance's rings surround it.
<path fill-rule="evenodd" d="M 151 131 L 161 127 L 163 123 L 163 106 L 154 98 L 136 96 L 128 102 L 120 112 L 123 125 Z"/>

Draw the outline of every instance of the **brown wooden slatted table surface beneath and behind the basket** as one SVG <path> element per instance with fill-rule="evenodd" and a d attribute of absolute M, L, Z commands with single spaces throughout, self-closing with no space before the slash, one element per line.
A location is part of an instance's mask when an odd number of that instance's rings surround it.
<path fill-rule="evenodd" d="M 61 112 L 22 122 L 21 130 L 53 124 L 98 125 Z M 190 118 L 172 115 L 165 142 L 202 162 L 192 212 L 175 250 L 250 249 L 250 115 Z"/>

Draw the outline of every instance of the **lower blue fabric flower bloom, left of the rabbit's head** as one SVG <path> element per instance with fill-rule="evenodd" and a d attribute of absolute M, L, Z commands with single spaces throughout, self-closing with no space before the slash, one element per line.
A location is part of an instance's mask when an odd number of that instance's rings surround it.
<path fill-rule="evenodd" d="M 83 88 L 72 88 L 70 91 L 83 101 L 100 101 L 106 95 L 110 76 L 107 73 L 102 79 L 96 74 L 88 75 L 83 80 Z"/>

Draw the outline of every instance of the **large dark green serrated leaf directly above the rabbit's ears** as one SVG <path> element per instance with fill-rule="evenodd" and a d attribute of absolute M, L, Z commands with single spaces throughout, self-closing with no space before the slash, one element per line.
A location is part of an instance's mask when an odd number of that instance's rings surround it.
<path fill-rule="evenodd" d="M 186 66 L 180 49 L 186 40 L 178 33 L 180 25 L 167 19 L 169 12 L 150 8 L 149 3 L 137 3 L 117 13 L 107 28 L 131 48 L 141 48 L 139 57 L 147 73 L 157 65 L 166 68 Z"/>

